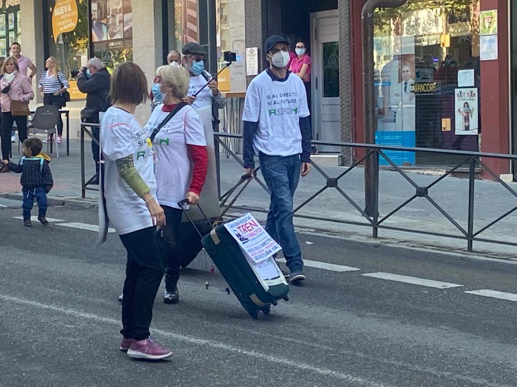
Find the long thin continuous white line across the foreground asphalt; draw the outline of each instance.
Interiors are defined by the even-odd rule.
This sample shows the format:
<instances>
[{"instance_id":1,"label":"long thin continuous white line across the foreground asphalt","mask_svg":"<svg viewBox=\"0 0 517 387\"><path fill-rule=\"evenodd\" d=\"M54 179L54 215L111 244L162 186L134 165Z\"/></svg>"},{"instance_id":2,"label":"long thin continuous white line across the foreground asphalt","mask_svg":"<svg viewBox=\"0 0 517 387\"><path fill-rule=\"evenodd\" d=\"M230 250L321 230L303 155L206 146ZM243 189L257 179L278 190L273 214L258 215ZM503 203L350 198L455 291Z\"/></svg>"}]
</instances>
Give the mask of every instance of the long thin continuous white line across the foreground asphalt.
<instances>
[{"instance_id":1,"label":"long thin continuous white line across the foreground asphalt","mask_svg":"<svg viewBox=\"0 0 517 387\"><path fill-rule=\"evenodd\" d=\"M107 323L115 325L117 327L120 326L119 320L115 320L113 318L108 318L108 317L102 317L102 316L99 316L99 315L93 314L93 313L85 313L85 312L76 311L73 309L59 308L55 305L49 305L49 304L44 304L44 303L37 302L37 301L32 301L32 300L27 300L27 299L17 298L17 297L11 297L11 296L5 296L5 295L0 295L0 300L4 300L4 301L8 301L8 302L16 302L16 303L24 304L24 305L30 305L32 307L36 307L36 308L40 308L40 309L47 309L47 310L51 310L51 311L55 311L55 312L59 312L59 313L64 313L69 316L74 316L74 317L78 317L81 319L87 318L90 320L107 322ZM215 348L215 349L222 349L227 352L238 353L241 355L248 356L250 358L264 360L266 362L273 363L273 364L283 364L286 367L292 367L292 368L296 368L296 369L303 370L303 371L309 371L314 374L318 374L318 375L322 375L322 376L333 377L336 379L343 380L347 383L353 383L354 385L364 385L364 386L368 386L368 387L389 387L386 384L375 383L375 382L372 382L372 381L369 381L369 380L366 380L363 378L359 378L359 377L356 377L353 375L334 371L333 369L321 368L321 367L313 366L313 365L310 365L307 363L301 363L301 362L297 362L294 360L271 356L270 354L267 354L267 353L252 351L252 350L220 343L215 340L206 340L204 338L186 336L186 335L172 333L169 331L164 331L164 330L156 329L156 328L153 328L153 333L156 333L157 335L169 337L172 340L178 341L178 342L194 344L194 345L200 346L200 347L211 347L211 348Z\"/></svg>"}]
</instances>

